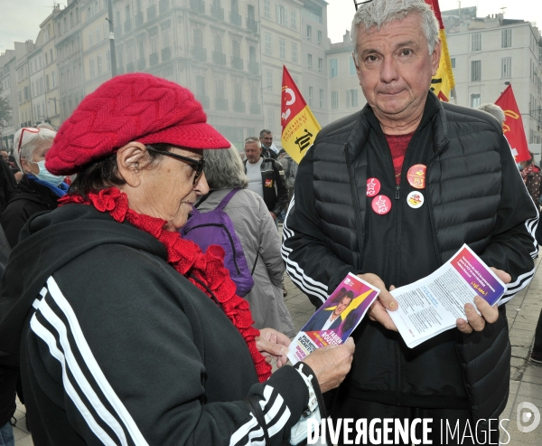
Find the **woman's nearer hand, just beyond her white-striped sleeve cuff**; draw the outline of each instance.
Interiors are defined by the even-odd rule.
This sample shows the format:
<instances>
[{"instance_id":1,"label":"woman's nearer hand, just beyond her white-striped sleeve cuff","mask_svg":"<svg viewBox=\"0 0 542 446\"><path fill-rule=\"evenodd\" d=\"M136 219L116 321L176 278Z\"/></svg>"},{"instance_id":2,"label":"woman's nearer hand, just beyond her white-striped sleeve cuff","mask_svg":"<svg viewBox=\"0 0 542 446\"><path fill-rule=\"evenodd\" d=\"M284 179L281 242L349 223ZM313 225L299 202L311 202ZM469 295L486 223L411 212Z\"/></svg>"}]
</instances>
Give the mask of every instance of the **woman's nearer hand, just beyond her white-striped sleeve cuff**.
<instances>
[{"instance_id":1,"label":"woman's nearer hand, just beyond her white-striped sleeve cuff","mask_svg":"<svg viewBox=\"0 0 542 446\"><path fill-rule=\"evenodd\" d=\"M322 394L338 387L350 372L354 349L354 341L349 337L341 346L324 346L304 358L303 362L316 374Z\"/></svg>"}]
</instances>

